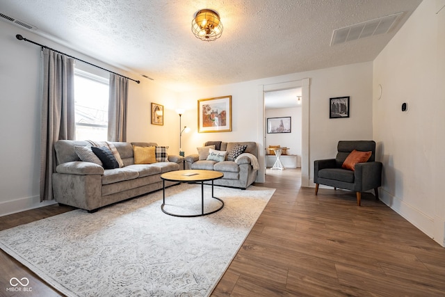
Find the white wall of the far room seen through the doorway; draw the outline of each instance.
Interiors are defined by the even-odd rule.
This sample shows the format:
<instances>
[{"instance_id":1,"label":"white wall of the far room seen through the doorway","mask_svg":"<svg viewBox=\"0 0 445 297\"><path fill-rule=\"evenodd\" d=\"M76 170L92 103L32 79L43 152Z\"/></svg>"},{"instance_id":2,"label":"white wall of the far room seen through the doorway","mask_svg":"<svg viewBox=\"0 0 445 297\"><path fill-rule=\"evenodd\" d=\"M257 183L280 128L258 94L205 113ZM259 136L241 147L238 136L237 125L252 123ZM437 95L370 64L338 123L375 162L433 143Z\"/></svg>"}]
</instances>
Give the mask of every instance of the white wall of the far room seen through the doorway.
<instances>
[{"instance_id":1,"label":"white wall of the far room seen through the doorway","mask_svg":"<svg viewBox=\"0 0 445 297\"><path fill-rule=\"evenodd\" d=\"M266 133L266 147L280 145L289 147L286 154L297 155L297 167L301 167L301 107L267 109L265 118L291 117L291 133Z\"/></svg>"}]
</instances>

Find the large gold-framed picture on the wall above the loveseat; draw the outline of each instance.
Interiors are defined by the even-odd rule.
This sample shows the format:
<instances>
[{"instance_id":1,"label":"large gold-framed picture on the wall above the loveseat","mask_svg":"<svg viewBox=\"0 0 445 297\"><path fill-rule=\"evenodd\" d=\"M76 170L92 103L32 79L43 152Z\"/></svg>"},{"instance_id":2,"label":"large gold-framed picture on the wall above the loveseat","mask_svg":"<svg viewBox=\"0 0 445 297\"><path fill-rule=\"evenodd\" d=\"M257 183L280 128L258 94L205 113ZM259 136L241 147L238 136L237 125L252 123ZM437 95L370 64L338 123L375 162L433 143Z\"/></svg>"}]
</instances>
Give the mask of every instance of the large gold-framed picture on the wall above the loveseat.
<instances>
[{"instance_id":1,"label":"large gold-framed picture on the wall above the loveseat","mask_svg":"<svg viewBox=\"0 0 445 297\"><path fill-rule=\"evenodd\" d=\"M232 96L197 101L197 131L232 131Z\"/></svg>"}]
</instances>

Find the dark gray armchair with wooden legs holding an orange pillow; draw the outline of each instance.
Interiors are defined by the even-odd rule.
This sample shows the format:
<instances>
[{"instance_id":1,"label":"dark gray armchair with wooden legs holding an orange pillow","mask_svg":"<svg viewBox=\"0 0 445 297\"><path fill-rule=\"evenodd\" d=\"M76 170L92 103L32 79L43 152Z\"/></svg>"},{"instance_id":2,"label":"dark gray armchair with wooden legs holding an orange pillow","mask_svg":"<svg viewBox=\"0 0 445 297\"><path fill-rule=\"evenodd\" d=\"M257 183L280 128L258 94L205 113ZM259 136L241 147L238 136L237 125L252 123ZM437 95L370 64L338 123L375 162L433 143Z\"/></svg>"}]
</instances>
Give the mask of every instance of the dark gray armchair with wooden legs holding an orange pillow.
<instances>
[{"instance_id":1,"label":"dark gray armchair with wooden legs holding an orange pillow","mask_svg":"<svg viewBox=\"0 0 445 297\"><path fill-rule=\"evenodd\" d=\"M371 157L366 163L355 164L355 170L341 168L343 161L353 150L371 151ZM357 205L360 206L362 192L374 189L375 199L378 199L378 187L382 185L382 163L375 161L375 141L339 141L337 157L314 161L315 195L318 185L333 186L355 191Z\"/></svg>"}]
</instances>

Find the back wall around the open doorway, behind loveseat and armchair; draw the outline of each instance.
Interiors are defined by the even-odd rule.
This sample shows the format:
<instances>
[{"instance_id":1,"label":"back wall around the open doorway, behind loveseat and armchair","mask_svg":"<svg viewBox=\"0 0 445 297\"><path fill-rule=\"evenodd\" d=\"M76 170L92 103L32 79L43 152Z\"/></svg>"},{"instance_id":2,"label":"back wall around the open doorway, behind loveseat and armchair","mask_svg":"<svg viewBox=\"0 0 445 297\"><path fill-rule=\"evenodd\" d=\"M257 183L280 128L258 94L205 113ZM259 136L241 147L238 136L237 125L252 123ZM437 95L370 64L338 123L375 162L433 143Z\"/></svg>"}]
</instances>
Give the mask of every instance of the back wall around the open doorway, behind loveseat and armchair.
<instances>
[{"instance_id":1,"label":"back wall around the open doorway, behind loveseat and armchair","mask_svg":"<svg viewBox=\"0 0 445 297\"><path fill-rule=\"evenodd\" d=\"M369 62L182 93L178 102L186 109L183 124L192 128L191 133L185 137L183 134L182 146L186 154L195 154L196 147L205 141L256 141L259 144L259 154L263 156L263 159L259 160L262 170L265 149L264 103L259 99L258 86L309 78L308 179L313 180L314 160L335 156L338 141L372 139L372 77L372 63ZM197 100L225 95L232 95L232 132L197 133ZM350 96L350 118L330 119L329 98L341 96ZM313 182L311 185L314 186Z\"/></svg>"}]
</instances>

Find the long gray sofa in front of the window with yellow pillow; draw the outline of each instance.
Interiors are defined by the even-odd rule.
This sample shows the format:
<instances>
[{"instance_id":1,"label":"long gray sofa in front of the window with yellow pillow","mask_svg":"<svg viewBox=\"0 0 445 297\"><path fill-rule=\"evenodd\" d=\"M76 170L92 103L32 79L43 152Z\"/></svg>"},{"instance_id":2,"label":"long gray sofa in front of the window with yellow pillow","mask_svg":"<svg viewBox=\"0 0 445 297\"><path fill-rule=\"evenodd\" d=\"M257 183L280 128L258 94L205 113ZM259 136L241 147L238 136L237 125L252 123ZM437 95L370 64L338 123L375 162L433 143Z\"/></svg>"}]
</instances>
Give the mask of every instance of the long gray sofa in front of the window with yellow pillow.
<instances>
[{"instance_id":1,"label":"long gray sofa in front of the window with yellow pillow","mask_svg":"<svg viewBox=\"0 0 445 297\"><path fill-rule=\"evenodd\" d=\"M134 164L133 146L156 146L156 143L113 143L124 167L104 169L95 163L80 161L74 146L90 145L87 141L57 141L57 157L53 173L54 199L90 212L162 188L163 172L184 169L182 156L169 155L168 162ZM170 186L172 182L165 182Z\"/></svg>"}]
</instances>

